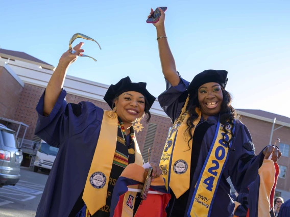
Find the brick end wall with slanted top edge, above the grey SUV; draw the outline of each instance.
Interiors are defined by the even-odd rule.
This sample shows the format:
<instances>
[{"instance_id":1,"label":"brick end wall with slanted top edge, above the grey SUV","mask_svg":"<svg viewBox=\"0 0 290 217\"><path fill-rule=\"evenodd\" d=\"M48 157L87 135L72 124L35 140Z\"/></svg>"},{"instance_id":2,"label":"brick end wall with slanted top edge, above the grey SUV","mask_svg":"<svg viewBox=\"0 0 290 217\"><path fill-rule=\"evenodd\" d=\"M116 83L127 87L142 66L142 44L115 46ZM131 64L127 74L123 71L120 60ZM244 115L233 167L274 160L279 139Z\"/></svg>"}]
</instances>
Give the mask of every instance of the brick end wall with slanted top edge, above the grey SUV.
<instances>
[{"instance_id":1,"label":"brick end wall with slanted top edge, above the grey SUV","mask_svg":"<svg viewBox=\"0 0 290 217\"><path fill-rule=\"evenodd\" d=\"M0 117L14 119L22 86L0 66Z\"/></svg>"}]
</instances>

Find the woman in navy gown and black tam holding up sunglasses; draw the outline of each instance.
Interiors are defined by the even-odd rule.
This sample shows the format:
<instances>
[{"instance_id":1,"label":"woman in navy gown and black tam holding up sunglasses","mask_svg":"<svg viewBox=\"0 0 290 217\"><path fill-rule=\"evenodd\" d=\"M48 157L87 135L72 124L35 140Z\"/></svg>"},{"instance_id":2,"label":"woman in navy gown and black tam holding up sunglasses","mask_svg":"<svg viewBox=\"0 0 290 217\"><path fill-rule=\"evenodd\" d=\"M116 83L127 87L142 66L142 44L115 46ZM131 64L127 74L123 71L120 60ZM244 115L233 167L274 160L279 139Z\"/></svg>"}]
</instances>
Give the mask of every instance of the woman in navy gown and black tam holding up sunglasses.
<instances>
[{"instance_id":1,"label":"woman in navy gown and black tam holding up sunglasses","mask_svg":"<svg viewBox=\"0 0 290 217\"><path fill-rule=\"evenodd\" d=\"M146 83L132 83L129 77L111 85L104 97L113 111L91 102L66 103L63 84L69 65L84 50L83 43L60 58L36 107L35 134L58 147L36 217L107 217L116 180L128 164L143 165L132 124L155 101ZM153 166L153 177L161 170Z\"/></svg>"}]
</instances>

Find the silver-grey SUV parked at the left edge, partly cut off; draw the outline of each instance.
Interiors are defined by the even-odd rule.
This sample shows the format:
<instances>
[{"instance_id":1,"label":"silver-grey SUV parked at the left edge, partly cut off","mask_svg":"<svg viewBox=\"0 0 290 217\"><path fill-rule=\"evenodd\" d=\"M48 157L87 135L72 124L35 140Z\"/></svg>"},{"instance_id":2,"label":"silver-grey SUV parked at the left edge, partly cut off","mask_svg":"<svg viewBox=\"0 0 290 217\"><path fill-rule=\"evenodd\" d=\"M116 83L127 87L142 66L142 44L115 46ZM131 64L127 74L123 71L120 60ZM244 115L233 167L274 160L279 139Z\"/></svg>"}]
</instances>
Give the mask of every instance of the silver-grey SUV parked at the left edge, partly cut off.
<instances>
[{"instance_id":1,"label":"silver-grey SUV parked at the left edge, partly cut off","mask_svg":"<svg viewBox=\"0 0 290 217\"><path fill-rule=\"evenodd\" d=\"M19 181L22 159L16 132L0 124L0 187Z\"/></svg>"}]
</instances>

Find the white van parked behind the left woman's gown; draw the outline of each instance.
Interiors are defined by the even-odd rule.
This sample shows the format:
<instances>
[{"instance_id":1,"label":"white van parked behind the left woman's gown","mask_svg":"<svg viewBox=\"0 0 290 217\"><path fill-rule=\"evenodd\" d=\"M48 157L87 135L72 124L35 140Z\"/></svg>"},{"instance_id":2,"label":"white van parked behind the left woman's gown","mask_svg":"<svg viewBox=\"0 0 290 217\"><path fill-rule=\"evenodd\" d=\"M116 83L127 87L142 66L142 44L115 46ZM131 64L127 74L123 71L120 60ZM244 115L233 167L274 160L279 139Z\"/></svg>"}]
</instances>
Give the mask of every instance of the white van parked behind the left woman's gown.
<instances>
[{"instance_id":1,"label":"white van parked behind the left woman's gown","mask_svg":"<svg viewBox=\"0 0 290 217\"><path fill-rule=\"evenodd\" d=\"M34 172L37 172L38 169L51 170L58 150L59 148L50 146L42 140L35 156Z\"/></svg>"}]
</instances>

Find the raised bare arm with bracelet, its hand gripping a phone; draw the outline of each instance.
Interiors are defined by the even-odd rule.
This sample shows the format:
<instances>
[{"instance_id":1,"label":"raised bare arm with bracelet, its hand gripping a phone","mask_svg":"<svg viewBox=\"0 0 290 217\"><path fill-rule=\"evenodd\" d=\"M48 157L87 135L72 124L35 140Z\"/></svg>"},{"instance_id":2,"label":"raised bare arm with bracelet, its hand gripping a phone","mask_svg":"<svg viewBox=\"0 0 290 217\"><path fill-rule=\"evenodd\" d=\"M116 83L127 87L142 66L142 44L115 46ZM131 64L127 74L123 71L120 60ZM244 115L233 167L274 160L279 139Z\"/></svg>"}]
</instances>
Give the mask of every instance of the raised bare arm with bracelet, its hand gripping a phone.
<instances>
[{"instance_id":1,"label":"raised bare arm with bracelet, its hand gripping a phone","mask_svg":"<svg viewBox=\"0 0 290 217\"><path fill-rule=\"evenodd\" d=\"M157 23L153 23L156 27L157 31L157 38L160 36L166 36L165 33L165 13L162 9L159 8L159 11L161 12L161 16ZM148 17L151 16L151 14L154 13L154 11L151 9L151 13ZM167 38L159 38L158 40L158 48L159 48L159 57L162 67L162 72L164 74L164 77L172 86L177 86L180 82L180 77L177 73L175 61L172 55L172 52L170 50Z\"/></svg>"}]
</instances>

